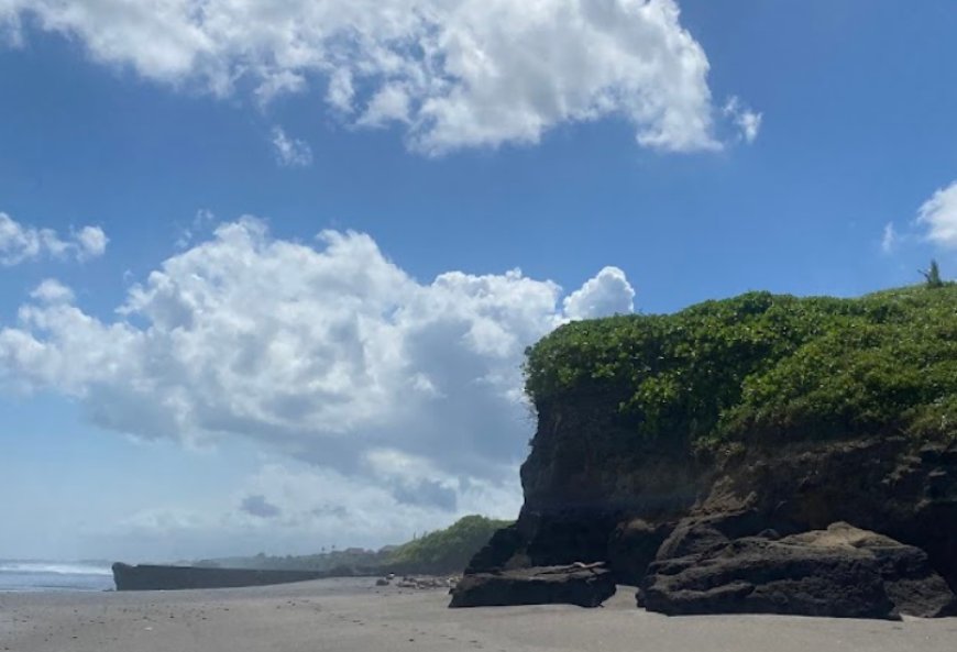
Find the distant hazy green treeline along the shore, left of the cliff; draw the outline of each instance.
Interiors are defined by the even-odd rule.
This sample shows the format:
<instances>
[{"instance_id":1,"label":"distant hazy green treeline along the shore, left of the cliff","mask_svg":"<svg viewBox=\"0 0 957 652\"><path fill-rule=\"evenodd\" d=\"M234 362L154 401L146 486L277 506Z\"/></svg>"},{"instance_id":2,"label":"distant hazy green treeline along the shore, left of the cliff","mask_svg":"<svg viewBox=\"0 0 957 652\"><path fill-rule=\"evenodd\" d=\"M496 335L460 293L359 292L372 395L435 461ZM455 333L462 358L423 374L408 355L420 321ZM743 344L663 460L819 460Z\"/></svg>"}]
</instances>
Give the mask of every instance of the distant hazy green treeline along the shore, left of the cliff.
<instances>
[{"instance_id":1,"label":"distant hazy green treeline along the shore, left of the cliff","mask_svg":"<svg viewBox=\"0 0 957 652\"><path fill-rule=\"evenodd\" d=\"M417 537L402 545L380 550L346 548L309 555L200 560L190 565L211 568L257 568L265 571L342 571L348 574L458 573L464 568L492 534L510 521L466 516L454 524Z\"/></svg>"}]
</instances>

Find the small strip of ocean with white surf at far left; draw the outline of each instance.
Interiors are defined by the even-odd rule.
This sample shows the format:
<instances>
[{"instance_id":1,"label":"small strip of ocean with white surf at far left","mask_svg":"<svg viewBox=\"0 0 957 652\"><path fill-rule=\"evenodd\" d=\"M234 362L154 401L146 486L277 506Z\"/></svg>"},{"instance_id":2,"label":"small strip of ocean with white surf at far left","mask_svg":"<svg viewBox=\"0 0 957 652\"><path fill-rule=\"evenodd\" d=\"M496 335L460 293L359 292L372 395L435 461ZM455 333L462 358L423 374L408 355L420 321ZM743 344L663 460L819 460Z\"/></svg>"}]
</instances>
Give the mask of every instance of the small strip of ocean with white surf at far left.
<instances>
[{"instance_id":1,"label":"small strip of ocean with white surf at far left","mask_svg":"<svg viewBox=\"0 0 957 652\"><path fill-rule=\"evenodd\" d=\"M109 566L0 561L0 592L112 590Z\"/></svg>"}]
</instances>

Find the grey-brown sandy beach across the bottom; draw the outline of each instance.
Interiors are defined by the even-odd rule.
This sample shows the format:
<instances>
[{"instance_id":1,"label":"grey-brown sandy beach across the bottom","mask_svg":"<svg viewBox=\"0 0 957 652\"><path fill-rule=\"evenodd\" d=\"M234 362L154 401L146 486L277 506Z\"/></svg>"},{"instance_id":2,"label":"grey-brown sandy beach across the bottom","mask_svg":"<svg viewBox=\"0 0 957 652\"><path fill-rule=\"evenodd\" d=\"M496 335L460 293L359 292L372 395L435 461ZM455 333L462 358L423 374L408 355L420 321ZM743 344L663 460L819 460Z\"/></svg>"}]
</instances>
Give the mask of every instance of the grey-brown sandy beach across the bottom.
<instances>
[{"instance_id":1,"label":"grey-brown sandy beach across the bottom","mask_svg":"<svg viewBox=\"0 0 957 652\"><path fill-rule=\"evenodd\" d=\"M0 594L0 651L957 651L957 619L668 618L622 587L604 608L447 609L443 590L324 579L249 589Z\"/></svg>"}]
</instances>

